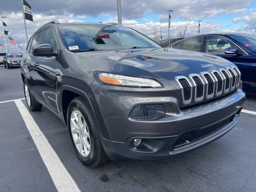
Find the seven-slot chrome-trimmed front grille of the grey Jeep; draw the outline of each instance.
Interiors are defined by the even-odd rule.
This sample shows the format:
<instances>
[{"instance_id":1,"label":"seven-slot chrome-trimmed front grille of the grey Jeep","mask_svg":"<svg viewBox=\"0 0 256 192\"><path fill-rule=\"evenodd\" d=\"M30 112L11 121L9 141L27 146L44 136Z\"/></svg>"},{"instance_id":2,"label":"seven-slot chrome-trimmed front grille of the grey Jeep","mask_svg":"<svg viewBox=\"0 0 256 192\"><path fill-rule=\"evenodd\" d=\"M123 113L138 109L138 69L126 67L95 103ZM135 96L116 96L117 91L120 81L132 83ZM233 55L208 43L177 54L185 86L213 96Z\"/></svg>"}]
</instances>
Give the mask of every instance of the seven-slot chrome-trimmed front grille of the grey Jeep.
<instances>
[{"instance_id":1,"label":"seven-slot chrome-trimmed front grille of the grey Jeep","mask_svg":"<svg viewBox=\"0 0 256 192\"><path fill-rule=\"evenodd\" d=\"M238 68L232 66L200 74L190 74L189 77L175 77L180 86L184 105L191 104L192 100L199 102L233 91L239 86L241 73Z\"/></svg>"}]
</instances>

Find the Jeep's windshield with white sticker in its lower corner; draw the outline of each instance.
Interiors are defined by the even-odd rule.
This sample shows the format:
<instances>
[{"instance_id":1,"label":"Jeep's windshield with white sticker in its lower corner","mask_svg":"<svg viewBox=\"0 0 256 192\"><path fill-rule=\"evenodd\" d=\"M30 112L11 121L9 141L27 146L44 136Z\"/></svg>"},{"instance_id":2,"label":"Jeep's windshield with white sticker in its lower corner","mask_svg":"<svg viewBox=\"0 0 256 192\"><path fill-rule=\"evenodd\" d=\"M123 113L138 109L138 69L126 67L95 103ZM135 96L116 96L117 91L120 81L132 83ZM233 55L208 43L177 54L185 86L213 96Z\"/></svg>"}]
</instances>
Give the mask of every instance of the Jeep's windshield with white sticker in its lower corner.
<instances>
[{"instance_id":1,"label":"Jeep's windshield with white sticker in its lower corner","mask_svg":"<svg viewBox=\"0 0 256 192\"><path fill-rule=\"evenodd\" d=\"M122 50L161 46L150 38L124 26L70 25L59 26L68 50Z\"/></svg>"}]
</instances>

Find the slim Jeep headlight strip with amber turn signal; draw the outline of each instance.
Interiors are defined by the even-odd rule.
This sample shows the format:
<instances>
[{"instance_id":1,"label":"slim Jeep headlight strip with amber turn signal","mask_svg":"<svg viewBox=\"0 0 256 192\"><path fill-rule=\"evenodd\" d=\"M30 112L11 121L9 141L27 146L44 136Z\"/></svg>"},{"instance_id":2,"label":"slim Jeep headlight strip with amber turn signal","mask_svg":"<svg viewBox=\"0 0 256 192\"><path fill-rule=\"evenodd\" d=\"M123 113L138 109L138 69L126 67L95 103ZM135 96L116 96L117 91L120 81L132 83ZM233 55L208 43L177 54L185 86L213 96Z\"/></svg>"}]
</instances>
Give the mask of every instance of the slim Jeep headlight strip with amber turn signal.
<instances>
[{"instance_id":1,"label":"slim Jeep headlight strip with amber turn signal","mask_svg":"<svg viewBox=\"0 0 256 192\"><path fill-rule=\"evenodd\" d=\"M95 72L95 79L101 84L127 86L127 87L164 87L156 80L132 76L124 76L106 72Z\"/></svg>"}]
</instances>

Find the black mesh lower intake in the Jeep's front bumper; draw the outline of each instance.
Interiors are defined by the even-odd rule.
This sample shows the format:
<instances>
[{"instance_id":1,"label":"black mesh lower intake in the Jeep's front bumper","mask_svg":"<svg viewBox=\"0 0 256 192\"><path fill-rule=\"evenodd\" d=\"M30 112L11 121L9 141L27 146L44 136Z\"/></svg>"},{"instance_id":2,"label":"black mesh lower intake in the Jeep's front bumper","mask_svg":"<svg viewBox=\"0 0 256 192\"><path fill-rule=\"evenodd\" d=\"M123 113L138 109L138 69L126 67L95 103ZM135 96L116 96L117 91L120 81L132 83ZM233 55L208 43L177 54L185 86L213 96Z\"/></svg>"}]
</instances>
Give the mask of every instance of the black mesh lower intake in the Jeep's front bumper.
<instances>
[{"instance_id":1,"label":"black mesh lower intake in the Jeep's front bumper","mask_svg":"<svg viewBox=\"0 0 256 192\"><path fill-rule=\"evenodd\" d=\"M178 138L178 140L176 140L176 142L173 145L173 148L180 146L180 144L182 144L182 143L185 144L186 141L189 141L189 142L186 142L188 144L188 143L192 142L194 139L200 138L201 136L204 136L204 135L209 134L219 128L222 128L223 126L225 126L226 124L231 122L233 120L233 118L234 118L234 116L231 116L229 118L222 120L221 122L218 122L212 126L205 128L203 130L194 130L191 132L184 133Z\"/></svg>"}]
</instances>

